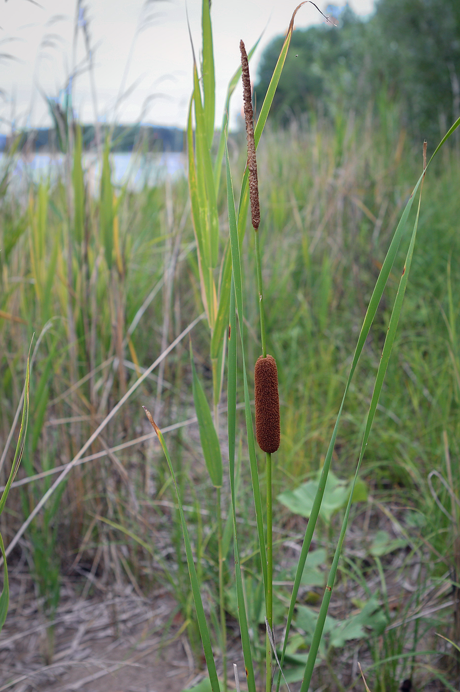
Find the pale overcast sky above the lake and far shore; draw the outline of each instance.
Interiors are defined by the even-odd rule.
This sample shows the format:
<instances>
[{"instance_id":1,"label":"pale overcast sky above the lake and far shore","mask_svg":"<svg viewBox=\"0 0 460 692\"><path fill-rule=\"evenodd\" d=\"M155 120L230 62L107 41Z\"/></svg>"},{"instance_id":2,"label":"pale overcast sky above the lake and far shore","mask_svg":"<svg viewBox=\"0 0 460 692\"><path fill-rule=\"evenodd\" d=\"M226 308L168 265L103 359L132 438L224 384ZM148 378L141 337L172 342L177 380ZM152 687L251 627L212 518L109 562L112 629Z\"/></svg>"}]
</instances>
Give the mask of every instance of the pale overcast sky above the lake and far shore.
<instances>
[{"instance_id":1,"label":"pale overcast sky above the lake and far shore","mask_svg":"<svg viewBox=\"0 0 460 692\"><path fill-rule=\"evenodd\" d=\"M264 46L285 33L299 0L213 0L211 19L215 51L216 120L240 61L240 39L249 48L263 33L251 62L251 75ZM83 0L76 49L76 0L0 0L0 131L26 125L50 124L42 94L57 97L75 66L82 71L72 84L73 108L83 122L99 120L152 122L184 127L192 84L192 52L187 12L195 53L200 51L201 0ZM326 14L328 3L318 6ZM344 6L345 0L336 0ZM360 15L373 10L374 0L349 0ZM86 24L85 24L86 21ZM297 13L297 28L321 24L311 5ZM86 69L82 32L89 34L94 63L94 93ZM119 102L118 96L129 89ZM117 104L118 100L118 106ZM233 122L241 109L240 90L231 105Z\"/></svg>"}]
</instances>

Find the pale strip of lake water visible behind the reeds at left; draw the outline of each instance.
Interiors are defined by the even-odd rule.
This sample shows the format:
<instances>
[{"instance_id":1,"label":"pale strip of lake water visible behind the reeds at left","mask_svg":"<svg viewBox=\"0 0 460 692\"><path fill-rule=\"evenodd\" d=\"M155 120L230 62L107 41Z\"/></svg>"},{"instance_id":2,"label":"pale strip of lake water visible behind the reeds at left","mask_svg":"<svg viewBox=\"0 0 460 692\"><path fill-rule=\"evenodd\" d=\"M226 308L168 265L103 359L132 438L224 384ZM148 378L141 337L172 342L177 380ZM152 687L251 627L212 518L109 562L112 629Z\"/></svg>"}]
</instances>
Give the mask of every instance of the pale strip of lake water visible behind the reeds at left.
<instances>
[{"instance_id":1,"label":"pale strip of lake water visible behind the reeds at left","mask_svg":"<svg viewBox=\"0 0 460 692\"><path fill-rule=\"evenodd\" d=\"M8 156L0 153L0 179ZM144 185L153 187L166 178L175 179L185 175L186 156L183 152L164 154L133 154L131 152L111 154L112 183L118 187L127 185L138 191ZM93 152L82 155L85 179L91 194L97 194L100 185L101 159ZM10 189L20 193L28 190L29 184L49 179L51 185L64 173L63 154L30 154L15 156L10 175Z\"/></svg>"}]
</instances>

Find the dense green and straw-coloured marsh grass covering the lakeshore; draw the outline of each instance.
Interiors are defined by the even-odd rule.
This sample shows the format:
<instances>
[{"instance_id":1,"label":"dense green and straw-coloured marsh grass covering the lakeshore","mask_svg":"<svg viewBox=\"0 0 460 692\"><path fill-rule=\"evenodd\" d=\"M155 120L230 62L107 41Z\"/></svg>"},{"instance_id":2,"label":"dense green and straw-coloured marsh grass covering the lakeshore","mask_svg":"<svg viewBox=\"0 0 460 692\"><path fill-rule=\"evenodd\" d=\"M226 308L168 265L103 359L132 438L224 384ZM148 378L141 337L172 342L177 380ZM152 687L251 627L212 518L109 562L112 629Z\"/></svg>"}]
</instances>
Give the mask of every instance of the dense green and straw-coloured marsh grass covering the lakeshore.
<instances>
[{"instance_id":1,"label":"dense green and straw-coloured marsh grass covering the lakeshore","mask_svg":"<svg viewBox=\"0 0 460 692\"><path fill-rule=\"evenodd\" d=\"M303 605L294 610L305 562L308 568L313 559L312 540L317 544L328 537L320 532L313 538L313 529L329 468L354 483L362 461L360 473L374 494L391 491L397 497L403 486L404 501L409 498L424 515L418 520L423 542L411 538L412 555L422 559L423 551L430 551L437 561L427 580L447 579L449 572L454 579L457 569L457 539L450 538L450 528L458 523L458 478L449 460L458 453L460 277L450 256L458 249L459 162L446 150L442 164L437 158L430 163L423 203L415 214L421 148L414 152L409 147L396 119L388 118L383 127L369 111L365 122L350 116L335 125L313 120L298 129L269 131L269 102L288 34L255 128L261 218L258 230L249 233L242 137L226 134L227 116L218 140L213 131L206 1L202 24L203 59L201 66L194 65L187 130L188 190L184 181L139 194L115 189L107 142L100 190L91 196L78 128L63 182L54 188L31 186L26 203L8 194L5 185L0 254L3 440L21 396L26 343L34 330L39 345L24 451L28 479L12 484L6 509L17 511L19 519L12 514L8 524L2 519L1 531L8 554L17 552L19 537L27 532L35 579L48 594L48 617L53 617L53 594L59 593L64 570L98 572L101 579L118 583L129 579L139 591L148 589L152 575L168 579L191 637L196 626L200 630L213 689L230 685L231 661L225 652L231 612L239 618L248 688L256 689L260 664L266 664L265 689L271 689L275 648L287 677L301 666L301 689L306 690L316 660L326 660L333 677L331 652L347 641L335 637L326 653L321 644L322 631L331 631L326 613L338 579L349 502L337 515L342 528L337 521L328 527L327 534L336 540L329 545L330 590L324 590L319 619L302 610ZM237 70L229 95L239 76ZM237 170L241 185L234 182ZM256 327L262 293L265 348ZM183 345L188 334L190 348ZM267 352L276 358L281 403L281 446L272 466L256 453L251 412L251 373L258 356ZM238 401L244 402L244 421ZM139 418L141 403L153 411L164 432L157 431L166 464L158 448L148 446L152 442ZM172 440L165 430L190 417L192 406L202 444L202 461L194 451L193 463L184 448L196 450L195 437L186 435L185 426ZM227 440L226 409L228 452L222 442ZM145 445L146 464L127 446L136 436ZM430 486L430 471L440 466L439 475L430 476ZM272 585L267 569L273 550L274 581L283 581L276 568L284 560L283 547L272 543L271 501L266 509L266 498L271 485L276 498L318 469L319 490L288 593ZM197 477L197 486L188 482L190 477ZM172 509L171 491L177 493ZM348 496L353 492L346 500ZM184 529L185 555L181 537L170 529L170 511ZM204 517L209 525L203 525ZM281 527L292 521L276 499L272 519ZM253 525L254 531L249 530ZM154 547L149 543L152 526L159 537ZM297 526L304 531L302 524ZM48 543L44 536L51 537ZM46 567L56 560L60 569L53 573L53 583L46 583L51 572ZM350 570L359 581L360 568L353 563ZM379 570L375 560L375 572L383 575L384 601L384 572ZM85 595L89 588L88 581ZM378 604L373 611L372 605L369 594L362 622L374 632L374 644L379 633L387 648L375 644L369 675L378 671L374 689L397 689L409 653L414 676L423 673L414 659L420 637L412 630L408 653L402 637L391 639L392 629L384 632L389 615L378 619L375 613L382 611ZM292 622L295 636L289 636ZM296 632L304 633L308 652ZM242 666L238 670L245 677ZM275 677L275 684L282 681Z\"/></svg>"}]
</instances>

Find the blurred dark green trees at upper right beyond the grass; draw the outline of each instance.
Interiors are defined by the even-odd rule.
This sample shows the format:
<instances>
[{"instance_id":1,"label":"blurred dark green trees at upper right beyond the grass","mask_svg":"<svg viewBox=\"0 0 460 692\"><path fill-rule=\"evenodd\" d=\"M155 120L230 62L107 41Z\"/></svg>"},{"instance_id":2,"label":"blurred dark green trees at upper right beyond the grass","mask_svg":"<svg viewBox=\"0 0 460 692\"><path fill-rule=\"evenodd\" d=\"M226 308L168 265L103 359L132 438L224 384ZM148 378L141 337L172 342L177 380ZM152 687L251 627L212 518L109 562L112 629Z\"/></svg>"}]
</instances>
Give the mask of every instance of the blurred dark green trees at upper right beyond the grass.
<instances>
[{"instance_id":1,"label":"blurred dark green trees at upper right beyond the grass","mask_svg":"<svg viewBox=\"0 0 460 692\"><path fill-rule=\"evenodd\" d=\"M259 106L282 44L274 39L260 60ZM347 9L337 28L294 31L272 118L334 117L384 100L400 104L418 138L439 136L460 116L460 0L380 0L368 21Z\"/></svg>"}]
</instances>

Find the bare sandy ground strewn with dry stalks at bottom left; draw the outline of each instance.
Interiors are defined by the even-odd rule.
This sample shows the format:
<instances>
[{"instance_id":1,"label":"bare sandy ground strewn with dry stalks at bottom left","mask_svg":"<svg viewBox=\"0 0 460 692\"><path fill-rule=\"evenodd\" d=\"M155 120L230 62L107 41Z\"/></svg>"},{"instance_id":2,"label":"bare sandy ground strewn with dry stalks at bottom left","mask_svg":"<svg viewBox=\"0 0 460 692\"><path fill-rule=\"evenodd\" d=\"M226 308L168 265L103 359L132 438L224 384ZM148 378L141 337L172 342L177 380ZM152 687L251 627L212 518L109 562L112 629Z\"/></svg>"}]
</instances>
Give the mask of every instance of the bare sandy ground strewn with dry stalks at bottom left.
<instances>
[{"instance_id":1,"label":"bare sandy ground strewn with dry stalks at bottom left","mask_svg":"<svg viewBox=\"0 0 460 692\"><path fill-rule=\"evenodd\" d=\"M50 659L51 630L30 578L15 575L10 588L1 692L180 692L202 677L183 623L168 626L175 603L166 592L141 599L127 589L82 600L64 584Z\"/></svg>"}]
</instances>

